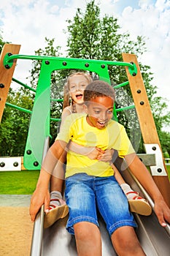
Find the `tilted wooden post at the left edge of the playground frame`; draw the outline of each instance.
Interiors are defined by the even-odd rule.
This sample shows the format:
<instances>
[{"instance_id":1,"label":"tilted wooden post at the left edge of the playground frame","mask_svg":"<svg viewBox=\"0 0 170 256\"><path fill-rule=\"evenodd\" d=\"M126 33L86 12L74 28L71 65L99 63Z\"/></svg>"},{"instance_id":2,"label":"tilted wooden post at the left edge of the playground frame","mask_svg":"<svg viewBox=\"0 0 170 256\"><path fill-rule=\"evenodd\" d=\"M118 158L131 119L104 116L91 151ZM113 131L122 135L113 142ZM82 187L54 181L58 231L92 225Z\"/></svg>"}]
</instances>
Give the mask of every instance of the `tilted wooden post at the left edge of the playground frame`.
<instances>
[{"instance_id":1,"label":"tilted wooden post at the left edge of the playground frame","mask_svg":"<svg viewBox=\"0 0 170 256\"><path fill-rule=\"evenodd\" d=\"M4 112L4 106L7 101L7 95L9 92L9 87L12 81L12 75L14 73L16 61L10 69L6 69L3 65L4 56L7 53L18 54L20 51L20 45L12 45L12 44L5 44L0 56L0 122Z\"/></svg>"}]
</instances>

